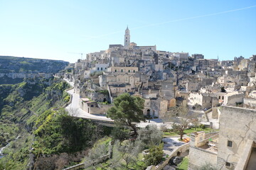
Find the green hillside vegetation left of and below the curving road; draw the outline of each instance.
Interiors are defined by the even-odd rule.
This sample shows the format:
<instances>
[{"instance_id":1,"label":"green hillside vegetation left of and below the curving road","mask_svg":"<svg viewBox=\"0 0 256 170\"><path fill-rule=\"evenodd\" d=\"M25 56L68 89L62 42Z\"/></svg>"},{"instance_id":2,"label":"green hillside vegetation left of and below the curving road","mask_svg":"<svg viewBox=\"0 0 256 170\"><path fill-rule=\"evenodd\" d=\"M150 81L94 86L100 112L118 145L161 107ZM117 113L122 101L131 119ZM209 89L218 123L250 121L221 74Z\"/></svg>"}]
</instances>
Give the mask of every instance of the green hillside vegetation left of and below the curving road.
<instances>
[{"instance_id":1,"label":"green hillside vegetation left of and below the curving road","mask_svg":"<svg viewBox=\"0 0 256 170\"><path fill-rule=\"evenodd\" d=\"M4 157L0 169L61 169L70 160L68 154L90 147L105 134L105 129L89 120L73 118L60 108L69 101L68 84L59 79L26 80L0 86L0 147ZM61 153L63 161L58 163ZM52 157L50 161L43 155ZM53 159L54 158L54 159Z\"/></svg>"}]
</instances>

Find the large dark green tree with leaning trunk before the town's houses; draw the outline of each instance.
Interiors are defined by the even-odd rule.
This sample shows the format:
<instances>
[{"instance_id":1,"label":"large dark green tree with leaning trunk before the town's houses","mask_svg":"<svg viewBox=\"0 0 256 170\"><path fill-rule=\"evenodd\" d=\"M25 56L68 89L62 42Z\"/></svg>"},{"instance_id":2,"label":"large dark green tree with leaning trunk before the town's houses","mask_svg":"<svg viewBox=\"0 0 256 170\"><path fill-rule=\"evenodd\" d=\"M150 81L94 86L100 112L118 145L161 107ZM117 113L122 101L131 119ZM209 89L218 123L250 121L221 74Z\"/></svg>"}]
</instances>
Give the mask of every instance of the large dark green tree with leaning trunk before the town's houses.
<instances>
[{"instance_id":1,"label":"large dark green tree with leaning trunk before the town's houses","mask_svg":"<svg viewBox=\"0 0 256 170\"><path fill-rule=\"evenodd\" d=\"M137 135L137 128L134 123L145 120L143 109L143 98L125 93L114 98L114 106L107 111L107 118L111 118L119 125L128 125Z\"/></svg>"}]
</instances>

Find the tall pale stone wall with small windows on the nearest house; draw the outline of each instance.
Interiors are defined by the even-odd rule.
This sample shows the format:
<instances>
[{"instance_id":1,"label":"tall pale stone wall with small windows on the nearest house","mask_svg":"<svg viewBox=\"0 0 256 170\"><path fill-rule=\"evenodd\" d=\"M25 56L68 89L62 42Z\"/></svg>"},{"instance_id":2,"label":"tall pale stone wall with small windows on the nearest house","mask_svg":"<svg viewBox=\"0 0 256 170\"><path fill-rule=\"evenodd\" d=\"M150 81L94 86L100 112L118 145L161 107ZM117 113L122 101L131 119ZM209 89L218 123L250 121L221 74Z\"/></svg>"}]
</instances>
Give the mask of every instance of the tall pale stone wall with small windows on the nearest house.
<instances>
[{"instance_id":1,"label":"tall pale stone wall with small windows on the nearest house","mask_svg":"<svg viewBox=\"0 0 256 170\"><path fill-rule=\"evenodd\" d=\"M218 144L219 169L235 169L235 166L243 159L248 140L256 140L256 111L233 106L223 106L220 115L220 137ZM232 146L228 146L228 141ZM225 166L225 162L231 164Z\"/></svg>"}]
</instances>

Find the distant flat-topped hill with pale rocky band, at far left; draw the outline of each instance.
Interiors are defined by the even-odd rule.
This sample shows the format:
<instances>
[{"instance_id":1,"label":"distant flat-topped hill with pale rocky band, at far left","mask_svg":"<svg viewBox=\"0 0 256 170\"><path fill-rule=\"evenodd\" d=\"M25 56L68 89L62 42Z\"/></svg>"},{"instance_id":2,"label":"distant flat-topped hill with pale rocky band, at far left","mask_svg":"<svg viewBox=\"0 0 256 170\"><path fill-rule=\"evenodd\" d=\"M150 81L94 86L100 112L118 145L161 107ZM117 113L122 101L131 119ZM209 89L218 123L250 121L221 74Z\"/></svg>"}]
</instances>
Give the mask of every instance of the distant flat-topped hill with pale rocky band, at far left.
<instances>
[{"instance_id":1,"label":"distant flat-topped hill with pale rocky band, at far left","mask_svg":"<svg viewBox=\"0 0 256 170\"><path fill-rule=\"evenodd\" d=\"M0 84L16 84L24 78L49 79L67 65L61 60L0 56Z\"/></svg>"}]
</instances>

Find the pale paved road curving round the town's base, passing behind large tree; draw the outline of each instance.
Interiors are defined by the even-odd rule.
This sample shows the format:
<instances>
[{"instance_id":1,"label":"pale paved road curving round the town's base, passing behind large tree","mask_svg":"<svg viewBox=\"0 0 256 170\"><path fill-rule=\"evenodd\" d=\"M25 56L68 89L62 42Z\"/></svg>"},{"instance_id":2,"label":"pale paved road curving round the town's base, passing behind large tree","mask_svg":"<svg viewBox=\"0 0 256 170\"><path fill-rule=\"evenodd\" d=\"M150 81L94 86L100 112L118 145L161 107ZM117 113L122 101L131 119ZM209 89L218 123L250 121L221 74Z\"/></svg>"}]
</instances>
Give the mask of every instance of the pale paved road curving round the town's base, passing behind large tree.
<instances>
[{"instance_id":1,"label":"pale paved road curving round the town's base, passing behind large tree","mask_svg":"<svg viewBox=\"0 0 256 170\"><path fill-rule=\"evenodd\" d=\"M68 84L70 84L70 86L74 86L73 82L68 81L67 79L64 79L65 81L68 82ZM95 120L106 120L106 121L113 121L110 118L107 118L105 115L92 115L90 113L87 113L86 111L83 111L82 109L80 109L79 107L79 100L80 100L80 96L79 94L75 94L74 93L74 89L71 89L70 91L67 91L68 94L71 94L73 96L72 102L70 103L70 105L68 105L66 107L66 110L70 113L70 115L79 117L79 118L88 118L88 119L95 119ZM146 127L146 125L156 125L158 128L171 128L171 124L170 123L162 123L161 119L153 119L150 120L149 122L141 122L141 123L137 123L137 126L140 128L144 128Z\"/></svg>"}]
</instances>

